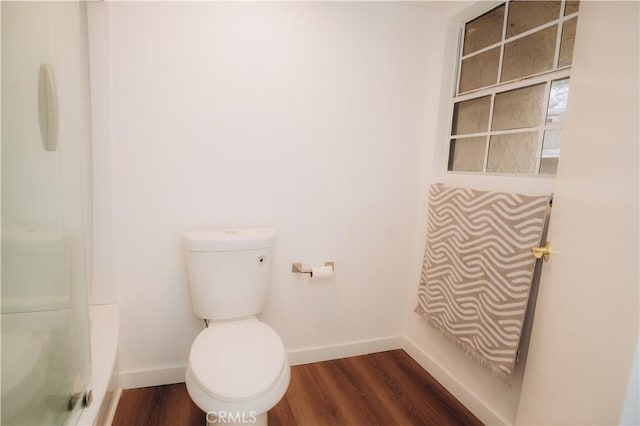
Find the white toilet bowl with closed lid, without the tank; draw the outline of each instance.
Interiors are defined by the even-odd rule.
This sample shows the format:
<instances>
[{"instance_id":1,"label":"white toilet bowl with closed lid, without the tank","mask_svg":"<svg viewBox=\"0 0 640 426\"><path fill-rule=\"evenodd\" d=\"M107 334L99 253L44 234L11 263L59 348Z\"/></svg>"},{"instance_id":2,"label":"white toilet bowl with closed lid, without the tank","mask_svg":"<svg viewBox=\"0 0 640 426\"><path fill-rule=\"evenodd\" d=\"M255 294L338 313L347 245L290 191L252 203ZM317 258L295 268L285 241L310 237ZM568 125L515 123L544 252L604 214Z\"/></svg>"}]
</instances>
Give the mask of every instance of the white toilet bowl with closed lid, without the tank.
<instances>
[{"instance_id":1,"label":"white toilet bowl with closed lid, without the tank","mask_svg":"<svg viewBox=\"0 0 640 426\"><path fill-rule=\"evenodd\" d=\"M211 323L191 346L187 390L209 424L266 425L289 378L280 337L256 318Z\"/></svg>"}]
</instances>

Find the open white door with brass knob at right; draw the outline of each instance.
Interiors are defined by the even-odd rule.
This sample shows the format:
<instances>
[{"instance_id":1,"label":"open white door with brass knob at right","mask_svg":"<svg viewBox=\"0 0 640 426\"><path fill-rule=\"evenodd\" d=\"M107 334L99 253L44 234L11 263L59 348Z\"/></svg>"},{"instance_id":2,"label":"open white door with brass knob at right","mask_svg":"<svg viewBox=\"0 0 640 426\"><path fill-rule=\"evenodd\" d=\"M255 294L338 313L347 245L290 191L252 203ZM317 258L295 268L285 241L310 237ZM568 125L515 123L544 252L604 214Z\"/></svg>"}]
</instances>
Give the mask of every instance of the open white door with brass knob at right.
<instances>
[{"instance_id":1,"label":"open white door with brass knob at right","mask_svg":"<svg viewBox=\"0 0 640 426\"><path fill-rule=\"evenodd\" d=\"M617 424L638 337L637 2L583 2L520 424Z\"/></svg>"}]
</instances>

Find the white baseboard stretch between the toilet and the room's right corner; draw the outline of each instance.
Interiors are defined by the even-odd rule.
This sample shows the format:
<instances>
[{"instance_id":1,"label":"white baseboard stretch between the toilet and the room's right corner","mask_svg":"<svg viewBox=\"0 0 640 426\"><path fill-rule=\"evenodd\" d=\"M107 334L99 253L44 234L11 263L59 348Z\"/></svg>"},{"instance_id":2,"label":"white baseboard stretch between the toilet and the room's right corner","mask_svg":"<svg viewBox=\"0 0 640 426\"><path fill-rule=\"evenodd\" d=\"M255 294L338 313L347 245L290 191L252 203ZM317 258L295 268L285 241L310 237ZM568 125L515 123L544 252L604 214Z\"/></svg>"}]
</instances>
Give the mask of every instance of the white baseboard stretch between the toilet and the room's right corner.
<instances>
[{"instance_id":1,"label":"white baseboard stretch between the toilet and the room's right corner","mask_svg":"<svg viewBox=\"0 0 640 426\"><path fill-rule=\"evenodd\" d=\"M314 346L311 348L287 351L289 364L300 365L312 362L329 361L350 356L366 355L375 352L402 348L403 336L389 336L379 339L358 340L335 345Z\"/></svg>"}]
</instances>

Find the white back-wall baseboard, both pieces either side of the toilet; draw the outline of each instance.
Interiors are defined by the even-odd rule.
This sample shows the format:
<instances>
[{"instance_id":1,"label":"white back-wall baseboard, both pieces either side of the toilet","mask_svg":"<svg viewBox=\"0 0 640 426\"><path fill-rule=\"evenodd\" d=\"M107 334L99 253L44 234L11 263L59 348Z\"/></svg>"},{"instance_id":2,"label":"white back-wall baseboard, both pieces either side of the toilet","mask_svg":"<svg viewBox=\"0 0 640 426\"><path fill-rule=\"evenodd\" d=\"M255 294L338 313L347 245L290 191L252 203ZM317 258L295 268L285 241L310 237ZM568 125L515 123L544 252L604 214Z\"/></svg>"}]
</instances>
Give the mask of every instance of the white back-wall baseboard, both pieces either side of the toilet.
<instances>
[{"instance_id":1,"label":"white back-wall baseboard, both pieces either side of the toilet","mask_svg":"<svg viewBox=\"0 0 640 426\"><path fill-rule=\"evenodd\" d=\"M379 339L359 340L327 346L287 351L291 365L309 364L311 362L328 361L350 356L366 355L375 352L400 349L404 337L390 336ZM172 366L145 370L129 370L120 372L120 386L123 389L161 386L185 381L187 367Z\"/></svg>"}]
</instances>

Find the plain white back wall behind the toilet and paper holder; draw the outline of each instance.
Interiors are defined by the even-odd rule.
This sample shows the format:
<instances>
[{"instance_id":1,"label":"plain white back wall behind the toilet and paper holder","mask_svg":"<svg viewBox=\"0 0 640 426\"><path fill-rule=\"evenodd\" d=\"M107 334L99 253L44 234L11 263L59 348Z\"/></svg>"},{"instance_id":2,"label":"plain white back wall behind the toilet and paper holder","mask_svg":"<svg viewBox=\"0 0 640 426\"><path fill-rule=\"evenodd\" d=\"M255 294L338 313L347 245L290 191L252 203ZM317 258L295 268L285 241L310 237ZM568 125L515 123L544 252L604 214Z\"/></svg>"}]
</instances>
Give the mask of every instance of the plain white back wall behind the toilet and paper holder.
<instances>
[{"instance_id":1,"label":"plain white back wall behind the toilet and paper holder","mask_svg":"<svg viewBox=\"0 0 640 426\"><path fill-rule=\"evenodd\" d=\"M390 3L108 6L111 181L96 185L112 185L125 386L182 380L201 329L181 251L191 228L278 229L262 317L288 350L397 345L441 21ZM291 273L325 260L333 279Z\"/></svg>"}]
</instances>

